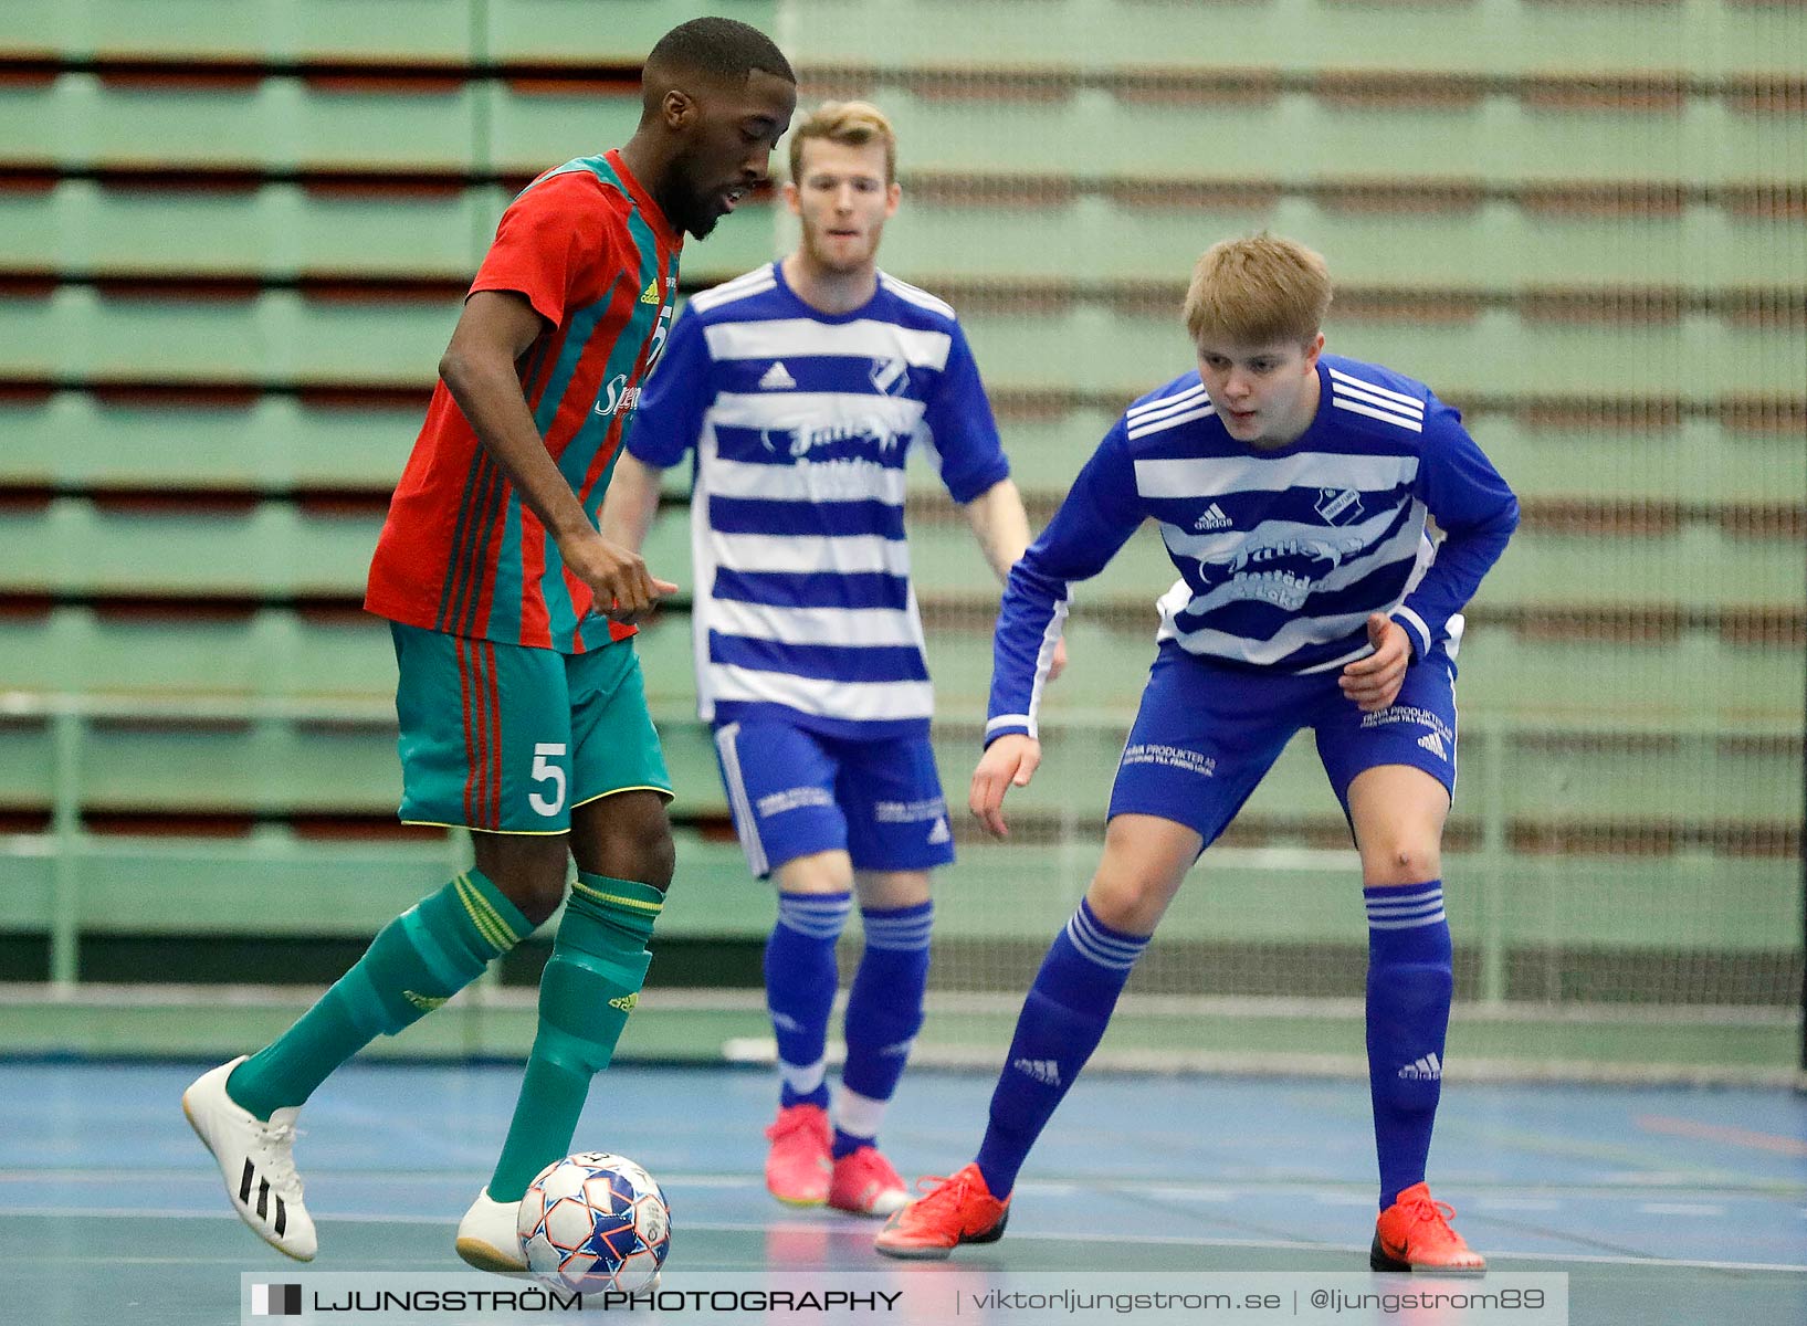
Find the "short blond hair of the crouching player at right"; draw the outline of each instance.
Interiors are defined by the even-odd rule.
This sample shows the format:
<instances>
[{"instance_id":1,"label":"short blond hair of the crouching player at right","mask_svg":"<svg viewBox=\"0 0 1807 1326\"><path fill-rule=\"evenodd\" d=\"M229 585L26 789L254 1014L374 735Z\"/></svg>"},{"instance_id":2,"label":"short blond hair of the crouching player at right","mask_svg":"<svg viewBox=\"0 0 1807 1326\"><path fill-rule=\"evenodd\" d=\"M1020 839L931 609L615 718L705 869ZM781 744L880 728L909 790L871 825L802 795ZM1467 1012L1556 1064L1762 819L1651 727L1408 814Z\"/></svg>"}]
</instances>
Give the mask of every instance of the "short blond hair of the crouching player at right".
<instances>
[{"instance_id":1,"label":"short blond hair of the crouching player at right","mask_svg":"<svg viewBox=\"0 0 1807 1326\"><path fill-rule=\"evenodd\" d=\"M1227 345L1308 341L1330 313L1330 269L1319 253L1269 235L1205 249L1185 291L1185 331Z\"/></svg>"}]
</instances>

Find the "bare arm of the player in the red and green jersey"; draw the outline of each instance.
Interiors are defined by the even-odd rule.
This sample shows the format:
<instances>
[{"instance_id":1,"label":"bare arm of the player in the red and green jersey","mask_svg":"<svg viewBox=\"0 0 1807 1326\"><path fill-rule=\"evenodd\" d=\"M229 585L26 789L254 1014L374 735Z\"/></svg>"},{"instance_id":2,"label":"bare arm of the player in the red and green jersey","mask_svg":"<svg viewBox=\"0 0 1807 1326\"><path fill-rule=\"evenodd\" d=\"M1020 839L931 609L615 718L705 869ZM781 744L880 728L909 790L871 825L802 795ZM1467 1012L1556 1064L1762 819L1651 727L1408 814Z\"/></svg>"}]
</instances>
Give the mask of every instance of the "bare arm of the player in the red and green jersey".
<instances>
[{"instance_id":1,"label":"bare arm of the player in the red and green jersey","mask_svg":"<svg viewBox=\"0 0 1807 1326\"><path fill-rule=\"evenodd\" d=\"M464 302L439 378L522 504L558 544L564 564L596 594L598 611L632 620L678 585L654 580L638 553L604 540L553 464L515 369L542 327L526 296L481 289Z\"/></svg>"}]
</instances>

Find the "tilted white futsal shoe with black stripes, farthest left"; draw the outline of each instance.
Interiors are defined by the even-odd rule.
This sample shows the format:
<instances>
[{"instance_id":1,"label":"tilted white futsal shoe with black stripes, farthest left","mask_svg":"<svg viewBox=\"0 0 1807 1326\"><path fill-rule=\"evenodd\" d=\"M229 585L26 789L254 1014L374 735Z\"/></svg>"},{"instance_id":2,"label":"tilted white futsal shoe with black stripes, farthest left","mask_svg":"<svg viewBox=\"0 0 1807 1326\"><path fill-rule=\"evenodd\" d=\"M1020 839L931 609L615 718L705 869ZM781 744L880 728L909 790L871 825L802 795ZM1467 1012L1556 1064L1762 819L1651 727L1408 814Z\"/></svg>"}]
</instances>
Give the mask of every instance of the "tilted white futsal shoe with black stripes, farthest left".
<instances>
[{"instance_id":1,"label":"tilted white futsal shoe with black stripes, farthest left","mask_svg":"<svg viewBox=\"0 0 1807 1326\"><path fill-rule=\"evenodd\" d=\"M183 1093L183 1113L226 1180L226 1196L239 1219L264 1243L296 1261L313 1261L320 1243L302 1205L302 1178L295 1172L295 1116L278 1109L266 1124L226 1095L226 1079L246 1060L239 1055L197 1077Z\"/></svg>"}]
</instances>

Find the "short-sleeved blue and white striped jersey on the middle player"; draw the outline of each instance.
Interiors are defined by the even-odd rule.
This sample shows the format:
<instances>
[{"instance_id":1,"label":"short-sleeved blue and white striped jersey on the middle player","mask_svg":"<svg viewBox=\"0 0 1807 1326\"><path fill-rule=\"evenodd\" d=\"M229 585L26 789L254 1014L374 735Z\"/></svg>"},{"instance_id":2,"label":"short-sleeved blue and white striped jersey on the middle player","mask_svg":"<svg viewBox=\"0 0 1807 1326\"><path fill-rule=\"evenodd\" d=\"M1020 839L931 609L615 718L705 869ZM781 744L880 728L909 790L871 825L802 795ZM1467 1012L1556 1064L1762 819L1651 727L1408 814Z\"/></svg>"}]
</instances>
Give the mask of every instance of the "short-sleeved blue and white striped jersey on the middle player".
<instances>
[{"instance_id":1,"label":"short-sleeved blue and white striped jersey on the middle player","mask_svg":"<svg viewBox=\"0 0 1807 1326\"><path fill-rule=\"evenodd\" d=\"M927 733L934 710L904 538L922 443L956 502L1008 477L954 311L885 273L824 314L779 264L690 300L627 450L690 497L698 708L826 735Z\"/></svg>"}]
</instances>

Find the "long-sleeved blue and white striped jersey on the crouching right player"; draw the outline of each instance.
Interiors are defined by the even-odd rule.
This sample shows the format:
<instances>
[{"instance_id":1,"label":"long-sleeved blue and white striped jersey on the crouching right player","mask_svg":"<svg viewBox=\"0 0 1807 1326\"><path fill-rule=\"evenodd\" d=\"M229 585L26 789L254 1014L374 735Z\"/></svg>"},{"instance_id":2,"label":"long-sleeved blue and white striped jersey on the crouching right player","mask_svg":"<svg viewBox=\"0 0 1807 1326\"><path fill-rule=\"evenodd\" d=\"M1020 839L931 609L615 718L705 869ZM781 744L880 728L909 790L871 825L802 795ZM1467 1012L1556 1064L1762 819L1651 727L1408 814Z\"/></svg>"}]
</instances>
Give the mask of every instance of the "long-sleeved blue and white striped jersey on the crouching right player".
<instances>
[{"instance_id":1,"label":"long-sleeved blue and white striped jersey on the crouching right player","mask_svg":"<svg viewBox=\"0 0 1807 1326\"><path fill-rule=\"evenodd\" d=\"M1196 369L1124 412L1010 573L987 741L1035 735L1068 585L1144 518L1180 571L1156 603L1164 649L1323 672L1368 654L1368 614L1386 612L1415 658L1455 656L1460 609L1505 551L1518 500L1424 383L1332 354L1317 381L1310 426L1272 452L1229 435Z\"/></svg>"}]
</instances>

